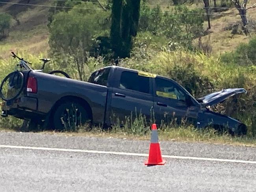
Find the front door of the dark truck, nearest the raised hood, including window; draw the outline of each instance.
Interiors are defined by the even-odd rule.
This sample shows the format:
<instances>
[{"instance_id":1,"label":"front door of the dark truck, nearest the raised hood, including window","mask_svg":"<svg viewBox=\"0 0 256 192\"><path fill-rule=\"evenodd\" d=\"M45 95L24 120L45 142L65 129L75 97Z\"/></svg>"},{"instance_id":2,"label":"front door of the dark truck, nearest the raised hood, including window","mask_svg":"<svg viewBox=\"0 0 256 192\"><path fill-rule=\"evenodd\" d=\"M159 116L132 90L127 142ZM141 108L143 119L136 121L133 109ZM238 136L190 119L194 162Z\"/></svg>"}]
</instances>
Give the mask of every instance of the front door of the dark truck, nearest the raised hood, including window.
<instances>
[{"instance_id":1,"label":"front door of the dark truck, nearest the raised hood, including window","mask_svg":"<svg viewBox=\"0 0 256 192\"><path fill-rule=\"evenodd\" d=\"M192 98L180 85L170 79L155 78L154 113L158 124L196 124L199 107L192 105Z\"/></svg>"}]
</instances>

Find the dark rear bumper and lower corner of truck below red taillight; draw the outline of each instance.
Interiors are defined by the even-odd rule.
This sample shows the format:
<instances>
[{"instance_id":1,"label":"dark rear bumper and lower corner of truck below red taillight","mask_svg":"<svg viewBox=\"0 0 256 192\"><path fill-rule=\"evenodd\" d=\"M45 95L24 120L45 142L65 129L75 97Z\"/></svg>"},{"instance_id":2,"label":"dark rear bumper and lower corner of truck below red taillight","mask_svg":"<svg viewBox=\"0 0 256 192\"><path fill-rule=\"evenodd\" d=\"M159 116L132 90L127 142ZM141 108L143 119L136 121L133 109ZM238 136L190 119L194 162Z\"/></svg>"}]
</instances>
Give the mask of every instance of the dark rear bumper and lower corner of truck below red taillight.
<instances>
[{"instance_id":1,"label":"dark rear bumper and lower corner of truck below red taillight","mask_svg":"<svg viewBox=\"0 0 256 192\"><path fill-rule=\"evenodd\" d=\"M20 119L43 118L45 115L37 111L37 98L20 97L17 100L3 103L1 116L15 116Z\"/></svg>"}]
</instances>

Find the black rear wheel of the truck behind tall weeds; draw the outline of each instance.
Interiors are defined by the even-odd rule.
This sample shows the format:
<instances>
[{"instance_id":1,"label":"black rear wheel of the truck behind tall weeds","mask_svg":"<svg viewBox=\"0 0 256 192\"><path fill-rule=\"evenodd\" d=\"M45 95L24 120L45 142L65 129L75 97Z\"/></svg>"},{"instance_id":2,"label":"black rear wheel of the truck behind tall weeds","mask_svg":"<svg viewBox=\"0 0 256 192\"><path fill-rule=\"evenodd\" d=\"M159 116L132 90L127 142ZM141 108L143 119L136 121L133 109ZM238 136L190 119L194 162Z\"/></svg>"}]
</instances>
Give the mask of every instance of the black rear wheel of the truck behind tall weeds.
<instances>
[{"instance_id":1,"label":"black rear wheel of the truck behind tall weeds","mask_svg":"<svg viewBox=\"0 0 256 192\"><path fill-rule=\"evenodd\" d=\"M76 102L62 103L53 114L53 126L58 131L76 131L77 126L89 121L87 110Z\"/></svg>"}]
</instances>

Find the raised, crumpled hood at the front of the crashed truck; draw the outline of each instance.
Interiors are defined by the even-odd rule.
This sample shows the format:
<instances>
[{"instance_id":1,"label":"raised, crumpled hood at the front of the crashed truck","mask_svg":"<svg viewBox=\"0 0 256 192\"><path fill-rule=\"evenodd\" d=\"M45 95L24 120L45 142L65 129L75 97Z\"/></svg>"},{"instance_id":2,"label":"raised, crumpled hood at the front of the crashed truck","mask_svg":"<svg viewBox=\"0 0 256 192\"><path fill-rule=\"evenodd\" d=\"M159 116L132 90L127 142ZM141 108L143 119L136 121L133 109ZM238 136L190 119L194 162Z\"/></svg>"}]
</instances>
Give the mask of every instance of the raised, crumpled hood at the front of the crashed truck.
<instances>
[{"instance_id":1,"label":"raised, crumpled hood at the front of the crashed truck","mask_svg":"<svg viewBox=\"0 0 256 192\"><path fill-rule=\"evenodd\" d=\"M198 98L197 101L204 106L213 106L239 93L247 93L247 90L243 88L223 89L219 92L214 92L202 98Z\"/></svg>"}]
</instances>

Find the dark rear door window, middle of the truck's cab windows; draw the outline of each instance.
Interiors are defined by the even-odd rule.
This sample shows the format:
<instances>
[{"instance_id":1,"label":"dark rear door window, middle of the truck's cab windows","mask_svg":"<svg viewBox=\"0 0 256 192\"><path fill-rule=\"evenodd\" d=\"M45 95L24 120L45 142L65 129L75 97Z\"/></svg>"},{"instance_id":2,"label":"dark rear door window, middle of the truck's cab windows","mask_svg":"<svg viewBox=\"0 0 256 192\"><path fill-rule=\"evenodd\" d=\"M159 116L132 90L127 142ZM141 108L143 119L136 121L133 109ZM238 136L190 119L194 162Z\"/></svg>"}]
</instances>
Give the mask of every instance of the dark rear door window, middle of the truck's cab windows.
<instances>
[{"instance_id":1,"label":"dark rear door window, middle of the truck's cab windows","mask_svg":"<svg viewBox=\"0 0 256 192\"><path fill-rule=\"evenodd\" d=\"M130 89L143 93L149 93L149 78L139 76L136 72L124 71L121 74L121 89Z\"/></svg>"}]
</instances>

